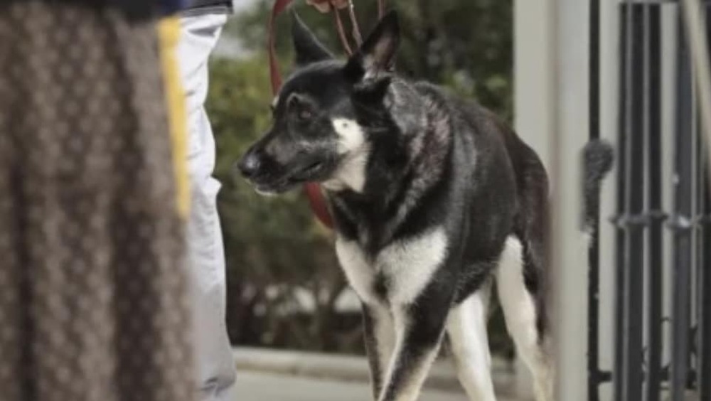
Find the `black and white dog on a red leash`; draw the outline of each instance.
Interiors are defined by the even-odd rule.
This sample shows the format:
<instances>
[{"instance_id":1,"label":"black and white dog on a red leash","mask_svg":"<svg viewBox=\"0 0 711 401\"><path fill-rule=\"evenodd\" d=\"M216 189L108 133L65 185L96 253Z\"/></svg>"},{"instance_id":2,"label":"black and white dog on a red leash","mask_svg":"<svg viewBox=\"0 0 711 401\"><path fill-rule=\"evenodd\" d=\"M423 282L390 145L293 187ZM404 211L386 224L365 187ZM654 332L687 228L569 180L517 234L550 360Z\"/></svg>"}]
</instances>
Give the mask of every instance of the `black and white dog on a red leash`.
<instances>
[{"instance_id":1,"label":"black and white dog on a red leash","mask_svg":"<svg viewBox=\"0 0 711 401\"><path fill-rule=\"evenodd\" d=\"M298 68L274 99L273 127L237 166L260 193L326 189L376 400L416 400L445 337L471 400L495 400L493 284L536 398L550 400L545 169L488 110L396 75L398 30L387 14L339 61L294 18Z\"/></svg>"}]
</instances>

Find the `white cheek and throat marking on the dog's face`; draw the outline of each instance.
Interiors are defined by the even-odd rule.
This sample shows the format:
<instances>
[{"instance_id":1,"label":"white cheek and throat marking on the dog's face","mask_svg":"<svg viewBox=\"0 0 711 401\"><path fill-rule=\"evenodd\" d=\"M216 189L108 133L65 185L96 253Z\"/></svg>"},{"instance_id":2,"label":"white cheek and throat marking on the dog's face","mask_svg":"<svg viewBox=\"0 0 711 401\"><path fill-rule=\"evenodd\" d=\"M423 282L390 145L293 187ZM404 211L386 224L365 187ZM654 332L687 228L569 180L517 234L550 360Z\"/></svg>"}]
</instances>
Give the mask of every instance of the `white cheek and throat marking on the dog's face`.
<instances>
[{"instance_id":1,"label":"white cheek and throat marking on the dog's face","mask_svg":"<svg viewBox=\"0 0 711 401\"><path fill-rule=\"evenodd\" d=\"M344 159L331 179L324 182L324 187L331 191L351 188L361 192L365 186L365 166L370 153L363 129L352 119L337 118L331 123L338 134L338 154Z\"/></svg>"}]
</instances>

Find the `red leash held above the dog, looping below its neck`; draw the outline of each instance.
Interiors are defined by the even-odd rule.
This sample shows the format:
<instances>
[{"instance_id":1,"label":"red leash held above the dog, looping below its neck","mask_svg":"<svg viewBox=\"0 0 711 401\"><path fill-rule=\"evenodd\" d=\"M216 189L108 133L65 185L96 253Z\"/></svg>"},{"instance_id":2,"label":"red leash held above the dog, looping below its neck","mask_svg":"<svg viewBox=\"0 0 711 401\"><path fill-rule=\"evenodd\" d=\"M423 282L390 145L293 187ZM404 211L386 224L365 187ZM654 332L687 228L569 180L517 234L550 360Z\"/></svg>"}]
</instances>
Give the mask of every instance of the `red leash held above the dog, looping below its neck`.
<instances>
[{"instance_id":1,"label":"red leash held above the dog, looping below its neck","mask_svg":"<svg viewBox=\"0 0 711 401\"><path fill-rule=\"evenodd\" d=\"M269 78L272 81L272 93L276 96L279 92L279 88L282 87L282 77L279 75L279 65L277 65L276 51L274 50L274 20L277 16L284 11L284 9L289 6L292 0L275 0L274 6L272 7L272 14L269 15L269 23L267 26L268 38L268 56L269 56ZM331 6L333 11L333 18L336 23L336 28L338 29L338 36L341 37L341 43L343 43L343 48L346 50L348 55L351 55L351 46L348 45L348 38L346 38L346 33L343 28L343 23L341 22L341 14L335 6ZM348 15L351 17L351 26L353 26L353 38L355 38L356 46L360 46L363 39L360 37L360 29L358 28L358 21L355 19L355 11L353 10L353 0L348 0ZM378 0L378 16L383 17L384 6L383 0ZM321 192L321 187L318 183L306 183L304 184L304 191L306 196L309 198L309 204L311 205L311 210L314 211L316 218L323 223L328 228L333 228L333 219L331 218L331 213L328 212L328 206L326 206L326 199L324 198L324 193Z\"/></svg>"}]
</instances>

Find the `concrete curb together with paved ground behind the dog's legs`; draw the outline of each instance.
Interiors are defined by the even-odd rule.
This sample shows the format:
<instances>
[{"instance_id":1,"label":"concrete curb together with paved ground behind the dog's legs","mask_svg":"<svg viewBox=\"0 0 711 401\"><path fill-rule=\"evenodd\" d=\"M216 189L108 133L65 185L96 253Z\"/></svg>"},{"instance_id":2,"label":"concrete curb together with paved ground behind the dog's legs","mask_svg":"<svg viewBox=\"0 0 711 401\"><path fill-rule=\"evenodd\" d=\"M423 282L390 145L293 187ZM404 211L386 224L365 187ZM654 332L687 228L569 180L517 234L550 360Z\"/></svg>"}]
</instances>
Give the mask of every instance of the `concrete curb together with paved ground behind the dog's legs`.
<instances>
[{"instance_id":1,"label":"concrete curb together with paved ground behind the dog's legs","mask_svg":"<svg viewBox=\"0 0 711 401\"><path fill-rule=\"evenodd\" d=\"M235 348L238 401L368 401L365 358L267 348ZM512 367L496 358L492 376L498 401L529 401L517 390ZM524 392L525 393L525 392ZM419 401L468 401L449 360L437 360Z\"/></svg>"}]
</instances>

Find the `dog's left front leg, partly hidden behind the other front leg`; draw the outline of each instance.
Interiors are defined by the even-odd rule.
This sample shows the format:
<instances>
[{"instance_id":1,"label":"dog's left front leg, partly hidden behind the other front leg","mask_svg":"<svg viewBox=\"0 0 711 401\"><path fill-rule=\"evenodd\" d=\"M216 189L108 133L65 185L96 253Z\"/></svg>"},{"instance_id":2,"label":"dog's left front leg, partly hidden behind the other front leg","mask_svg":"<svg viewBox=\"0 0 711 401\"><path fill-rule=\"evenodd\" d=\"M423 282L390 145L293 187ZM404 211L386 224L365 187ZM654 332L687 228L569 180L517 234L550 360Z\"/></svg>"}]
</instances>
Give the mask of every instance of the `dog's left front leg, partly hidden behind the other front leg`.
<instances>
[{"instance_id":1,"label":"dog's left front leg, partly hidden behind the other front leg","mask_svg":"<svg viewBox=\"0 0 711 401\"><path fill-rule=\"evenodd\" d=\"M377 400L392 350L395 348L395 324L385 306L363 304L363 334L370 364L373 399Z\"/></svg>"}]
</instances>

